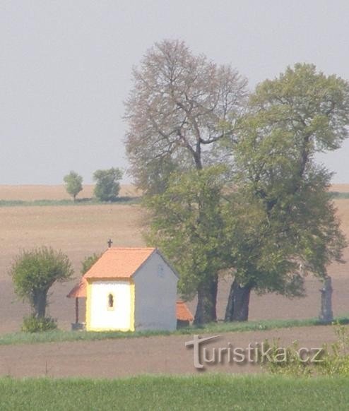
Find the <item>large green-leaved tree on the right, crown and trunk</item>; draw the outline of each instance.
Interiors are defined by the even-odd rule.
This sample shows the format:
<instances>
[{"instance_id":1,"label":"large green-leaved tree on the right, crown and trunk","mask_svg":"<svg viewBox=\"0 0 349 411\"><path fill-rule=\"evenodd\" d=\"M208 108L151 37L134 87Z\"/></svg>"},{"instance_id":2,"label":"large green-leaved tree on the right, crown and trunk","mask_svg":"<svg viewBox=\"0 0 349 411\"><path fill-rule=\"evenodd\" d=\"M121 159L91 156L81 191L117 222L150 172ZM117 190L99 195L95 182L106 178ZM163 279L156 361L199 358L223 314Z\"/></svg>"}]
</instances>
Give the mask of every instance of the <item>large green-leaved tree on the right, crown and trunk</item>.
<instances>
[{"instance_id":1,"label":"large green-leaved tree on the right, crown and trunk","mask_svg":"<svg viewBox=\"0 0 349 411\"><path fill-rule=\"evenodd\" d=\"M326 278L326 266L342 262L331 173L314 156L338 148L348 124L348 83L311 64L287 68L250 97L233 148L235 278L226 320L247 320L252 289L302 295L305 275Z\"/></svg>"}]
</instances>

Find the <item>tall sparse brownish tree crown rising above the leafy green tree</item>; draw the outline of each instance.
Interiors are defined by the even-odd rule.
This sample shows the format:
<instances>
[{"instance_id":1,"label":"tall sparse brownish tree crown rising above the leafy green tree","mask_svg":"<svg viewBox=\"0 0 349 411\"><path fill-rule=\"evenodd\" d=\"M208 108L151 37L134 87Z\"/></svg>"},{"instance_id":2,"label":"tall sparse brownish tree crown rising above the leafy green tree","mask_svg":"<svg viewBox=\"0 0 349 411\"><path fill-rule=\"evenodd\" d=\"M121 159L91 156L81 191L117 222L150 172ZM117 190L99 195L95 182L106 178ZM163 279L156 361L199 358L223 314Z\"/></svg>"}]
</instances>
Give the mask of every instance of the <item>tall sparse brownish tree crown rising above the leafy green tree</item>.
<instances>
[{"instance_id":1,"label":"tall sparse brownish tree crown rising above the leafy green tree","mask_svg":"<svg viewBox=\"0 0 349 411\"><path fill-rule=\"evenodd\" d=\"M232 139L247 93L247 81L235 69L192 54L184 42L165 40L148 50L133 76L126 153L139 189L162 193L174 172L223 162L220 147ZM207 290L215 292L199 294L206 302L217 294L217 277L210 281ZM205 305L203 316L214 321L209 312L215 301L199 304Z\"/></svg>"}]
</instances>

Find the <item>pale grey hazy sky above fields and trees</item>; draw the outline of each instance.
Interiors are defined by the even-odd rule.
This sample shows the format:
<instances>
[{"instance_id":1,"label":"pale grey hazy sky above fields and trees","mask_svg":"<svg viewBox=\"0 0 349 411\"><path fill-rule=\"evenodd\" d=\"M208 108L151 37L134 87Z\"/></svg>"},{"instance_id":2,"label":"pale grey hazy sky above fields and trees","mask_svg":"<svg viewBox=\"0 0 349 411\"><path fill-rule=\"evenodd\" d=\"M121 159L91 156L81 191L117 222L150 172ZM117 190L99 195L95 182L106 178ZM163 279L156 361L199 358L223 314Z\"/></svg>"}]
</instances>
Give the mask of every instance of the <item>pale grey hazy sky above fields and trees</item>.
<instances>
[{"instance_id":1,"label":"pale grey hazy sky above fields and trees","mask_svg":"<svg viewBox=\"0 0 349 411\"><path fill-rule=\"evenodd\" d=\"M0 0L0 184L127 167L131 67L179 38L250 87L312 62L349 79L348 0ZM321 160L349 182L349 141Z\"/></svg>"}]
</instances>

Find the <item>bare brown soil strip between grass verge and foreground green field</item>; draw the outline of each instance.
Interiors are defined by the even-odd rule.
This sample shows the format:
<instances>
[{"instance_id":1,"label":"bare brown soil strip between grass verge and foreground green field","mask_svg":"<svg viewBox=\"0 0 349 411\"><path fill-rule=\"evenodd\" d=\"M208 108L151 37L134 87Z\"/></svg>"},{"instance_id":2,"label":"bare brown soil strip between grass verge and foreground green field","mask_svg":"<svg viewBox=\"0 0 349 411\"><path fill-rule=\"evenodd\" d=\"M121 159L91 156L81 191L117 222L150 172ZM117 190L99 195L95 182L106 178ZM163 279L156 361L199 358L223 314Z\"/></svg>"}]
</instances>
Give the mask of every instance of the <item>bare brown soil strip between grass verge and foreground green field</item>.
<instances>
[{"instance_id":1,"label":"bare brown soil strip between grass verge and foreground green field","mask_svg":"<svg viewBox=\"0 0 349 411\"><path fill-rule=\"evenodd\" d=\"M225 333L205 345L208 358L212 348L256 346L264 340L280 339L279 347L294 340L299 347L321 348L335 340L332 326L283 328L271 331ZM201 374L193 364L193 349L185 347L191 335L171 335L119 340L56 342L0 347L0 376L88 376L117 378L137 374ZM208 364L206 372L259 373L257 364L227 362Z\"/></svg>"}]
</instances>

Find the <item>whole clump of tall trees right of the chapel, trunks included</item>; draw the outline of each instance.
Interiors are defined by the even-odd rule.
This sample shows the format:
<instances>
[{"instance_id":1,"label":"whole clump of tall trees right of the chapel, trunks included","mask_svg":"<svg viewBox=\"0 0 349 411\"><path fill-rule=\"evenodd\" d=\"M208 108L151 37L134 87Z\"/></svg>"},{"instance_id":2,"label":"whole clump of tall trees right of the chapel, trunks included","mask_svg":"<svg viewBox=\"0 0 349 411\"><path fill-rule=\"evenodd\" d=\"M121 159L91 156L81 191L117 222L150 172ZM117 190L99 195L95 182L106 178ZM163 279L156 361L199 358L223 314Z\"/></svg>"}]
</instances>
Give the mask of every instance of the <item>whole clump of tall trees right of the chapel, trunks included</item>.
<instances>
[{"instance_id":1,"label":"whole clump of tall trees right of the chapel, trunks included","mask_svg":"<svg viewBox=\"0 0 349 411\"><path fill-rule=\"evenodd\" d=\"M256 86L183 42L156 43L126 102L131 174L147 195L148 241L196 292L196 322L215 319L218 271L234 280L225 318L246 320L249 296L304 294L324 279L345 237L316 162L348 137L349 85L312 64ZM218 165L225 169L218 169Z\"/></svg>"}]
</instances>

